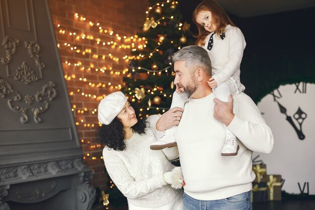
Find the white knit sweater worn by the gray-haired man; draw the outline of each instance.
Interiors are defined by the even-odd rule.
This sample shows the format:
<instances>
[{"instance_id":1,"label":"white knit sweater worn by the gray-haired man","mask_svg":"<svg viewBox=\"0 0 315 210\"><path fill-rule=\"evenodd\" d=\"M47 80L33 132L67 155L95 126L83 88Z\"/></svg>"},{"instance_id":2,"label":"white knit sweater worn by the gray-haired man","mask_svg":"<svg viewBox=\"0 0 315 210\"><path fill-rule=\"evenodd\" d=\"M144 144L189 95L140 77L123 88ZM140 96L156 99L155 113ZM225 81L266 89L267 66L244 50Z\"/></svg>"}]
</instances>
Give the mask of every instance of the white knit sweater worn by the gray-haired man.
<instances>
[{"instance_id":1,"label":"white knit sweater worn by the gray-haired man","mask_svg":"<svg viewBox=\"0 0 315 210\"><path fill-rule=\"evenodd\" d=\"M214 94L190 99L175 131L178 145L165 149L168 158L180 156L184 191L200 200L216 200L252 189L252 151L270 153L273 136L257 106L244 93L233 97L236 114L227 128L238 137L237 156L221 156L225 129L213 117Z\"/></svg>"}]
</instances>

